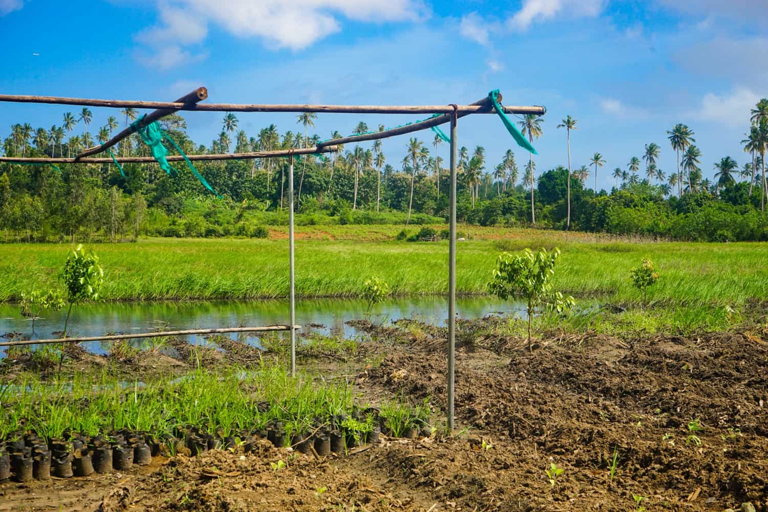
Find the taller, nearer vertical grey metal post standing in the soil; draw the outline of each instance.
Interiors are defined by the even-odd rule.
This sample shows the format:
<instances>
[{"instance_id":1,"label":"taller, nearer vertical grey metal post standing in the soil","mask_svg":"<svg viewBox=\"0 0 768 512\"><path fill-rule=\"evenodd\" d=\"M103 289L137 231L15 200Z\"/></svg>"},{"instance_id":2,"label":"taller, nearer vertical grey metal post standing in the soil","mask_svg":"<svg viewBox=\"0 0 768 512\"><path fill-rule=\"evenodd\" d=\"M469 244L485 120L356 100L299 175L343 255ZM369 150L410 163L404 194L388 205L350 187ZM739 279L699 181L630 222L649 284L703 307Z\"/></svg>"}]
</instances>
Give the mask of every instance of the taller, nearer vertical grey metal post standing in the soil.
<instances>
[{"instance_id":1,"label":"taller, nearer vertical grey metal post standing in the soil","mask_svg":"<svg viewBox=\"0 0 768 512\"><path fill-rule=\"evenodd\" d=\"M454 105L455 108L455 105ZM448 250L448 430L453 431L453 395L455 369L456 326L456 125L458 116L451 117L451 220Z\"/></svg>"}]
</instances>

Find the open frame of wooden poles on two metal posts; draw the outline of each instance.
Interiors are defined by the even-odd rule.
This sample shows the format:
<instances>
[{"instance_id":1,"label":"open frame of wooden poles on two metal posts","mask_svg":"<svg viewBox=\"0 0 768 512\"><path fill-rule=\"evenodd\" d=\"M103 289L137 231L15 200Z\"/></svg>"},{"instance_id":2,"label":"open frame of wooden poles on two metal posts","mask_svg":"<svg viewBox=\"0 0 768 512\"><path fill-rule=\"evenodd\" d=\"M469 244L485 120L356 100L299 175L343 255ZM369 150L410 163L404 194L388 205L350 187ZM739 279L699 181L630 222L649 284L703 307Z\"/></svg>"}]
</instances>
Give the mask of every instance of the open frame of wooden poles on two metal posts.
<instances>
[{"instance_id":1,"label":"open frame of wooden poles on two metal posts","mask_svg":"<svg viewBox=\"0 0 768 512\"><path fill-rule=\"evenodd\" d=\"M468 105L316 105L316 104L204 104L201 101L208 97L207 88L200 87L194 89L188 94L172 102L159 101L125 101L125 100L101 100L89 98L73 97L54 97L54 96L25 96L18 94L0 94L0 101L16 103L40 103L40 104L66 104L79 105L84 107L133 107L133 108L154 108L150 114L141 117L134 127L127 127L119 134L116 134L110 140L82 151L74 158L25 158L25 157L0 157L0 162L8 163L35 163L35 164L101 164L111 162L111 158L89 158L93 154L101 153L104 150L118 144L125 137L128 137L136 128L147 126L153 121L162 117L174 114L177 111L197 111L197 112L316 112L316 113L334 113L334 114L432 114L432 117L423 121L404 124L399 127L372 132L368 134L353 135L350 137L341 137L333 140L325 140L316 147L303 149L279 150L279 151L260 151L257 153L243 154L216 154L216 155L189 155L190 160L239 160L253 158L274 158L289 157L290 164L288 170L288 204L289 204L289 266L290 266L290 325L272 326L271 328L231 328L231 329L197 329L196 331L210 332L254 332L260 330L290 330L290 365L291 375L296 375L296 290L295 290L295 265L294 265L294 230L293 230L293 156L299 154L316 154L335 151L339 144L349 144L363 142L366 140L378 140L397 135L409 134L419 130L436 127L440 124L450 123L451 140L451 193L450 193L450 219L449 219L449 303L448 303L448 428L452 430L454 423L454 390L455 390L455 309L456 309L456 167L458 163L458 144L457 144L457 126L458 119L470 114L495 114L495 107L489 97L484 97ZM501 104L502 95L498 94L498 103ZM504 106L505 114L538 114L544 115L547 111L545 107L540 106ZM118 162L152 162L152 157L118 157ZM169 156L169 161L183 160L183 157ZM233 330L234 329L234 330ZM193 334L190 331L177 331L187 334ZM134 338L149 337L153 333L144 333L144 335L126 335ZM172 335L171 332L154 333L154 335ZM112 339L108 336L93 337L88 341L98 341L103 339ZM62 342L75 341L77 339L66 340L43 340L44 342ZM86 339L80 339L86 341ZM35 342L33 342L35 343ZM36 343L40 343L38 340ZM7 345L7 344L2 344Z\"/></svg>"}]
</instances>

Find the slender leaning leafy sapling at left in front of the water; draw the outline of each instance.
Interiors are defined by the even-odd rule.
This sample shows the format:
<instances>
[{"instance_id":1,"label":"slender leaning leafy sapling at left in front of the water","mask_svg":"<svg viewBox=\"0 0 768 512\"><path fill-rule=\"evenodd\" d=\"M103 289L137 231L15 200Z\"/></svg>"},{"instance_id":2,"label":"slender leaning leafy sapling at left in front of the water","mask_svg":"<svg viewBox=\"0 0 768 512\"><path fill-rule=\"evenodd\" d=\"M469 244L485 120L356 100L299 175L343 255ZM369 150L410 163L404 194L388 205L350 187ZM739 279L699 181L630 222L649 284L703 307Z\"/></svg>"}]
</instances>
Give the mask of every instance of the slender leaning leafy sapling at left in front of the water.
<instances>
[{"instance_id":1,"label":"slender leaning leafy sapling at left in front of the water","mask_svg":"<svg viewBox=\"0 0 768 512\"><path fill-rule=\"evenodd\" d=\"M98 263L98 256L94 253L86 254L82 245L77 246L69 253L61 269L61 282L64 283L69 304L62 334L66 338L72 306L78 302L99 299L101 285L104 283L104 269Z\"/></svg>"}]
</instances>

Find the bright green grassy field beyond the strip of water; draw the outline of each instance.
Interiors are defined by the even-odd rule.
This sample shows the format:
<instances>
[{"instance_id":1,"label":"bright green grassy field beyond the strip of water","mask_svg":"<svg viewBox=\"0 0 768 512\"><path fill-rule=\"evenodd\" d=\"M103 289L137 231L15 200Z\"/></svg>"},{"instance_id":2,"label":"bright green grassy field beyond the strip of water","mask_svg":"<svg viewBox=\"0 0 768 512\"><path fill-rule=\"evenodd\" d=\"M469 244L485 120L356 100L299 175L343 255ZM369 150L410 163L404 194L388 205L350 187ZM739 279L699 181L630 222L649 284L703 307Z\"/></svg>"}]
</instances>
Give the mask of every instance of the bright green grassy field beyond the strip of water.
<instances>
[{"instance_id":1,"label":"bright green grassy field beyond the strip of water","mask_svg":"<svg viewBox=\"0 0 768 512\"><path fill-rule=\"evenodd\" d=\"M444 294L448 244L393 239L402 226L310 226L296 243L296 292L300 297L359 296L362 283L379 276L397 295ZM412 230L415 233L415 229ZM457 289L485 293L502 250L558 246L555 282L574 296L613 302L640 298L629 270L649 255L660 282L651 301L737 306L768 296L768 246L762 243L629 242L583 233L473 228L458 243ZM274 233L279 236L279 233ZM376 241L369 241L375 239ZM68 244L0 245L0 301L50 286ZM106 300L253 299L288 294L288 243L272 239L144 239L87 246L101 258Z\"/></svg>"}]
</instances>

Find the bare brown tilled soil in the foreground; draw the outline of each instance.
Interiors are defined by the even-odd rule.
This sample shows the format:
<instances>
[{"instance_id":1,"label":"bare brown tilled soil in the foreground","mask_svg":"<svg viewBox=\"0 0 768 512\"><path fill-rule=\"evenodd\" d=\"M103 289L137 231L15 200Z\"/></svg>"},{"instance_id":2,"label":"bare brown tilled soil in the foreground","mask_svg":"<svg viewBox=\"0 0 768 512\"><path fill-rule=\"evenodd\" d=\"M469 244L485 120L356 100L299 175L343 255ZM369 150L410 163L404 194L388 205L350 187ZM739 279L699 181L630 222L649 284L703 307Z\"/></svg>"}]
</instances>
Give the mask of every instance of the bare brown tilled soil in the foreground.
<instances>
[{"instance_id":1,"label":"bare brown tilled soil in the foreground","mask_svg":"<svg viewBox=\"0 0 768 512\"><path fill-rule=\"evenodd\" d=\"M768 511L766 332L552 332L527 352L520 340L478 329L492 322L461 326L454 437L385 438L319 458L265 443L252 454L158 459L142 472L9 482L0 484L0 511L638 510L633 495L647 512L745 502ZM368 327L385 355L357 365L362 400L444 405L442 329ZM211 364L230 351L240 364L255 358L228 347ZM550 482L553 463L563 471Z\"/></svg>"}]
</instances>

